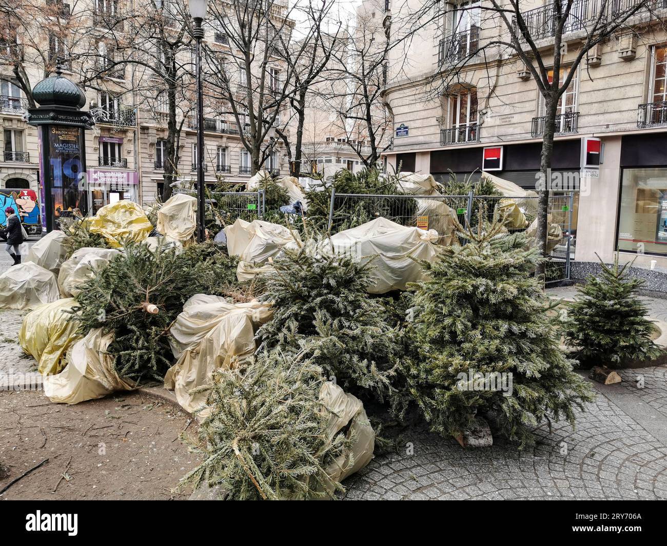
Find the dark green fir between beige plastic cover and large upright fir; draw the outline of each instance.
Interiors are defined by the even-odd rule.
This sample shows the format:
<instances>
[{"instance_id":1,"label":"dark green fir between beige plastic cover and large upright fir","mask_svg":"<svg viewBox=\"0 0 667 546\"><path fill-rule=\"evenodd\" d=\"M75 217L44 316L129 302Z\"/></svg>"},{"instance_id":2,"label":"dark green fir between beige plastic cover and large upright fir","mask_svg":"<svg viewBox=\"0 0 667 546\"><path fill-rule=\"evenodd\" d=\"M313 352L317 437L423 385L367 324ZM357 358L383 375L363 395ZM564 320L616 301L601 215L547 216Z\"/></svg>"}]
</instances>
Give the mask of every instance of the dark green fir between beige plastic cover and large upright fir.
<instances>
[{"instance_id":1,"label":"dark green fir between beige plastic cover and large upright fir","mask_svg":"<svg viewBox=\"0 0 667 546\"><path fill-rule=\"evenodd\" d=\"M387 323L381 298L366 292L370 265L303 246L285 249L265 279L273 319L257 332L261 349L309 346L327 376L354 394L392 392L398 332Z\"/></svg>"}]
</instances>

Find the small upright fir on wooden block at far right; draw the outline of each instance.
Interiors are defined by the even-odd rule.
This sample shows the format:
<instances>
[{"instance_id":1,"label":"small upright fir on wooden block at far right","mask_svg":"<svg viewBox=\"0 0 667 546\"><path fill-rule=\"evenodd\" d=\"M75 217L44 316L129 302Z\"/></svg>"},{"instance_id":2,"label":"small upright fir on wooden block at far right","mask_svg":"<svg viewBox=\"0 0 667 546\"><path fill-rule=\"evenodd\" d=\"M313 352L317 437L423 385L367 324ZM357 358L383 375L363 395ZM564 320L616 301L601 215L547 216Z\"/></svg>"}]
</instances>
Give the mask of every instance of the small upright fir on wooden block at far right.
<instances>
[{"instance_id":1,"label":"small upright fir on wooden block at far right","mask_svg":"<svg viewBox=\"0 0 667 546\"><path fill-rule=\"evenodd\" d=\"M639 298L643 281L628 275L632 263L600 263L600 276L591 275L577 290L582 299L567 308L566 341L583 364L618 367L628 360L650 360L662 354L651 340L653 323Z\"/></svg>"}]
</instances>

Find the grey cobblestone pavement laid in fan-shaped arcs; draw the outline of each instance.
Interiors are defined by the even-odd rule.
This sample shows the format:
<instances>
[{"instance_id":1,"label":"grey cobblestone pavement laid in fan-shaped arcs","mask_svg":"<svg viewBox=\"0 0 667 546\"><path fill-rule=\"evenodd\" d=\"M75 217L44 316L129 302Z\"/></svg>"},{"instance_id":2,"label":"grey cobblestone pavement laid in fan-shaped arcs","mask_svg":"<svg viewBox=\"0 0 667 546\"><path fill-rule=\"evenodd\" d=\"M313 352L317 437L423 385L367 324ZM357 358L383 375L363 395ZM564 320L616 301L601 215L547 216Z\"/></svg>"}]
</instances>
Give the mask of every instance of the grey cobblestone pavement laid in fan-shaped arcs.
<instances>
[{"instance_id":1,"label":"grey cobblestone pavement laid in fan-shaped arcs","mask_svg":"<svg viewBox=\"0 0 667 546\"><path fill-rule=\"evenodd\" d=\"M10 261L0 252L0 272ZM667 300L642 299L667 320ZM0 375L35 369L16 342L24 314L0 310ZM578 413L576 430L539 427L535 447L523 453L498 441L462 449L414 429L403 451L376 457L346 480L346 499L667 499L667 367L620 373L621 384L592 383L598 396Z\"/></svg>"}]
</instances>

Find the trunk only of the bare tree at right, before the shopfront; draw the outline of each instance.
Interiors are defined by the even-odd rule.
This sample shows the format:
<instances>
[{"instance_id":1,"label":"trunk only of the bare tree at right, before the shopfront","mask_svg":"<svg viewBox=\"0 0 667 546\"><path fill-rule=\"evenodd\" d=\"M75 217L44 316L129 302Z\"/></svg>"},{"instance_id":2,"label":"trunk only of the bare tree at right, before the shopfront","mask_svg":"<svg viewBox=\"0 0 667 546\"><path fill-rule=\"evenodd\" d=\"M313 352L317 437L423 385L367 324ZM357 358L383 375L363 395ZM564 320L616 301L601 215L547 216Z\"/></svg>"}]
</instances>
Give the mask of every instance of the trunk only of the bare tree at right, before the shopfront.
<instances>
[{"instance_id":1,"label":"trunk only of the bare tree at right, before the shopfront","mask_svg":"<svg viewBox=\"0 0 667 546\"><path fill-rule=\"evenodd\" d=\"M538 225L536 239L540 256L546 258L546 237L549 230L549 188L551 186L551 160L554 155L554 131L556 129L556 106L552 98L544 99L544 133L542 134L542 154L540 156L540 190L538 192ZM535 275L544 278L546 262L538 264Z\"/></svg>"}]
</instances>

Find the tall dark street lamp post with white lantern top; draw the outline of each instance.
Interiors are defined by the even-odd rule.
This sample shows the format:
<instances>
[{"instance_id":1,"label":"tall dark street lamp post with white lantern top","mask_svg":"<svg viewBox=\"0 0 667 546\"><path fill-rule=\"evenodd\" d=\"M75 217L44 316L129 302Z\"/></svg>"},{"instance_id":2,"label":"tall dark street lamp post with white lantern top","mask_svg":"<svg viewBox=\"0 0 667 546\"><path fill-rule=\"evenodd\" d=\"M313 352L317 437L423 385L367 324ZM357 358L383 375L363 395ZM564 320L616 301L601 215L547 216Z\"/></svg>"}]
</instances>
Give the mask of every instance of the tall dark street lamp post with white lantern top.
<instances>
[{"instance_id":1,"label":"tall dark street lamp post with white lantern top","mask_svg":"<svg viewBox=\"0 0 667 546\"><path fill-rule=\"evenodd\" d=\"M201 27L208 0L188 0L190 15L195 23L192 35L195 37L195 72L197 77L197 240L204 242L205 236L205 198L204 198L204 109L201 88L201 39L204 29Z\"/></svg>"}]
</instances>

